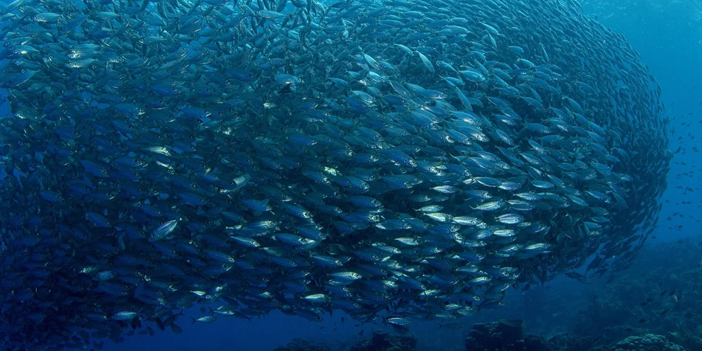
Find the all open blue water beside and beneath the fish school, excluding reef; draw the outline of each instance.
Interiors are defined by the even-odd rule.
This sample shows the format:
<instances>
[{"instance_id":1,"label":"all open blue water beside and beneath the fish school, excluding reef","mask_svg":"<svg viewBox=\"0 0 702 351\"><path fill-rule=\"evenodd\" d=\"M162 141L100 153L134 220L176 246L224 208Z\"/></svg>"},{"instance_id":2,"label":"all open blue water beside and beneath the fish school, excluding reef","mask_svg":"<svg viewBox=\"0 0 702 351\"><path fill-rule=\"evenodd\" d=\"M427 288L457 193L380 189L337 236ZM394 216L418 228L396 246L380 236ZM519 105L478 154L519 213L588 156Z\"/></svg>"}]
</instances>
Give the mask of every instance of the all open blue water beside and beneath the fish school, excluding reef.
<instances>
[{"instance_id":1,"label":"all open blue water beside and beneath the fish school, excluding reef","mask_svg":"<svg viewBox=\"0 0 702 351\"><path fill-rule=\"evenodd\" d=\"M698 151L702 149L702 11L695 0L587 0L582 1L582 6L589 16L622 33L640 52L643 63L662 86L662 100L672 121L670 149L679 151L674 154L668 189L661 199L660 221L645 244L646 249L655 251L662 243L689 238L691 241L677 246L679 250L699 251L699 246L685 243L702 241L701 154ZM5 103L0 103L0 113L8 113ZM635 265L646 266L652 259L638 255ZM615 274L636 273L628 270ZM559 278L526 292L510 291L506 306L466 318L464 328L439 328L437 322L413 323L410 333L419 338L418 350L450 351L465 350L463 339L473 323L499 318L522 318L529 332L546 337L568 332L573 327L570 322L578 315L578 307L585 307L592 301L593 294L600 288L599 283L582 284ZM651 288L657 289L656 292L664 289L657 284L652 282ZM185 311L185 314L200 315L198 311ZM153 337L134 335L119 344L105 341L103 350L258 351L272 350L294 338L328 343L332 350L346 350L356 340L369 337L372 330L389 330L379 324L362 325L342 313L328 315L320 323L282 313L251 321L220 318L216 323L191 325L188 320L180 321L183 328L180 335L168 330L156 331Z\"/></svg>"}]
</instances>

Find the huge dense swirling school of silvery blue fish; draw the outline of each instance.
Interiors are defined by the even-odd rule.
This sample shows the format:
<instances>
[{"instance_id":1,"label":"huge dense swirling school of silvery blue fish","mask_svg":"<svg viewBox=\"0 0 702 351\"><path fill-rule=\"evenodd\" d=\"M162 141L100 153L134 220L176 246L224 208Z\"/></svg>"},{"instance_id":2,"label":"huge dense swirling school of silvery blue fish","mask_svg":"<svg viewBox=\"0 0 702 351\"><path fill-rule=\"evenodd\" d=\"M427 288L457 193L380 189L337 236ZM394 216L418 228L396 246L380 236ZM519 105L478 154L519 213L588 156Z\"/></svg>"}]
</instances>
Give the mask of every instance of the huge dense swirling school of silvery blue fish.
<instances>
[{"instance_id":1,"label":"huge dense swirling school of silvery blue fish","mask_svg":"<svg viewBox=\"0 0 702 351\"><path fill-rule=\"evenodd\" d=\"M616 272L657 221L660 88L575 0L16 0L0 23L7 350L178 333L200 304L449 323Z\"/></svg>"}]
</instances>

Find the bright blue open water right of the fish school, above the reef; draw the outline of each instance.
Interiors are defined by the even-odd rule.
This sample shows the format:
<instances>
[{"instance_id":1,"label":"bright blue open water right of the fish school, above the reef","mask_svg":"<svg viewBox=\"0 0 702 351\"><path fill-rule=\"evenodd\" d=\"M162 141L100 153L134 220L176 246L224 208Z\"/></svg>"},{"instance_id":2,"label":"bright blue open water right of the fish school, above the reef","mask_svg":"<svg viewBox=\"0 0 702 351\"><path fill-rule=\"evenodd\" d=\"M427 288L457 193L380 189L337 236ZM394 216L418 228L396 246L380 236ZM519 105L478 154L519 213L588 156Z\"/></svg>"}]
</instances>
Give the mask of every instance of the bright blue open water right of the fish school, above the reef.
<instances>
[{"instance_id":1,"label":"bright blue open water right of the fish school, above the reef","mask_svg":"<svg viewBox=\"0 0 702 351\"><path fill-rule=\"evenodd\" d=\"M670 149L681 148L671 163L655 236L664 241L699 238L701 154L694 147L701 146L702 137L702 11L694 0L608 3L582 2L587 13L622 33L641 54L662 87L662 101L672 121Z\"/></svg>"}]
</instances>

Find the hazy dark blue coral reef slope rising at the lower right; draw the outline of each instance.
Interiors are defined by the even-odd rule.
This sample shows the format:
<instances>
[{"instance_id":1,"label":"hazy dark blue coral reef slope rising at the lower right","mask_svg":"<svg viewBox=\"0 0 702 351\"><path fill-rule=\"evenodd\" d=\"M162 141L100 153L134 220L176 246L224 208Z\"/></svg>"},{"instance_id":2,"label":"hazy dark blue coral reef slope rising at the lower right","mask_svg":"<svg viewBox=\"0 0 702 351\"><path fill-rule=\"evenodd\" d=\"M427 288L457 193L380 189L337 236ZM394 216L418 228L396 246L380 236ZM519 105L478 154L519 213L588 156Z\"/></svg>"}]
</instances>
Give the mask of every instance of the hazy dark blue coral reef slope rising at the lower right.
<instances>
[{"instance_id":1,"label":"hazy dark blue coral reef slope rising at the lower right","mask_svg":"<svg viewBox=\"0 0 702 351\"><path fill-rule=\"evenodd\" d=\"M702 350L702 343L687 337L700 335L702 325L697 267L701 248L697 240L643 248L639 255L645 260L604 284L589 287L592 299L576 308L580 312L572 318L572 332L599 338L607 345L629 335L666 335L689 350Z\"/></svg>"}]
</instances>

